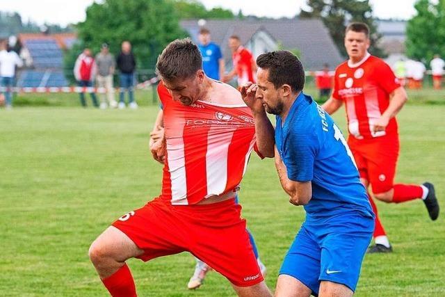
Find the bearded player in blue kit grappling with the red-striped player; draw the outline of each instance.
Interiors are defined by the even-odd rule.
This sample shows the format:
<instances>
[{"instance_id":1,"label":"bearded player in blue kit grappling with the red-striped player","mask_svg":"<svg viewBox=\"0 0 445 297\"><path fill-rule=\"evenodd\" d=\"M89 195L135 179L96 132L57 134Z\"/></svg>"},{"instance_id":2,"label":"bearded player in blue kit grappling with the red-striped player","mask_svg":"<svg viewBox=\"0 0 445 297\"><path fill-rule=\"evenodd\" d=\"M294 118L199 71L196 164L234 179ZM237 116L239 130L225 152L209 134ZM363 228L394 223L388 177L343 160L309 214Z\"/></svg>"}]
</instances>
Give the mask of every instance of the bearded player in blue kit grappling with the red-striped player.
<instances>
[{"instance_id":1,"label":"bearded player in blue kit grappling with the red-striped player","mask_svg":"<svg viewBox=\"0 0 445 297\"><path fill-rule=\"evenodd\" d=\"M257 58L257 85L241 93L254 113L257 143L270 143L289 202L306 220L287 252L275 296L353 296L374 230L366 190L340 129L302 93L305 72L289 51Z\"/></svg>"}]
</instances>

